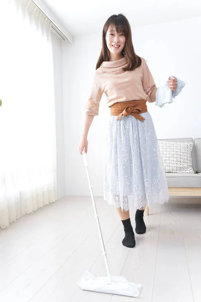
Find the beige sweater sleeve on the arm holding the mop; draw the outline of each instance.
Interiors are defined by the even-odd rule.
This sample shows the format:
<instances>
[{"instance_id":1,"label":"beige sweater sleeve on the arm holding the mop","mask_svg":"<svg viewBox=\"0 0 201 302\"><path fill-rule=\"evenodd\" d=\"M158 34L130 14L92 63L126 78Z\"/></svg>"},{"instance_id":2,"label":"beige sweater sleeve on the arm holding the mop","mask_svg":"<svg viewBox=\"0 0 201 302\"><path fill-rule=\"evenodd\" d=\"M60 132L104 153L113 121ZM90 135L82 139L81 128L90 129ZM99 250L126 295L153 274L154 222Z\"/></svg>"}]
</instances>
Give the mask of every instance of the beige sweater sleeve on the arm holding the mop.
<instances>
[{"instance_id":1,"label":"beige sweater sleeve on the arm holding the mop","mask_svg":"<svg viewBox=\"0 0 201 302\"><path fill-rule=\"evenodd\" d=\"M100 74L95 72L93 75L91 91L89 98L85 104L85 114L98 115L100 99L103 95L103 89L99 79Z\"/></svg>"}]
</instances>

